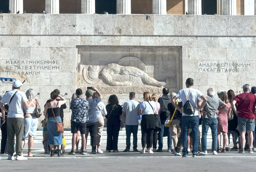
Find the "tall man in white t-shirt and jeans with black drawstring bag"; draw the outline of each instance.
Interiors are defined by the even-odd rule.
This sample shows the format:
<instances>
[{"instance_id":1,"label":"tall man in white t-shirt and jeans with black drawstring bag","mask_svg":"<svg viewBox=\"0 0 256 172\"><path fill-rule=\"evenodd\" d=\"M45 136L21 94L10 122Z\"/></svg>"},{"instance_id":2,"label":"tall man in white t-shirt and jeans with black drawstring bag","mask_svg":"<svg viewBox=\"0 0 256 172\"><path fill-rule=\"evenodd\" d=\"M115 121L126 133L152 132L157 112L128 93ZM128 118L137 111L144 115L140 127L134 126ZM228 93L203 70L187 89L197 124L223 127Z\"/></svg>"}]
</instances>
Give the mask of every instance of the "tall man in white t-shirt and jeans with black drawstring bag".
<instances>
[{"instance_id":1,"label":"tall man in white t-shirt and jeans with black drawstring bag","mask_svg":"<svg viewBox=\"0 0 256 172\"><path fill-rule=\"evenodd\" d=\"M172 104L182 113L182 146L183 146L183 157L188 156L188 130L191 125L192 127L192 139L193 139L193 150L192 150L192 157L197 156L198 151L198 127L199 127L199 114L198 110L202 110L204 105L207 102L205 96L197 89L192 88L194 85L194 80L192 78L188 78L186 80L186 88L181 89L172 99ZM194 113L193 114L185 114L183 112L183 108L180 108L176 103L175 100L180 98L182 100L182 104L186 103L187 100L190 101L191 105L193 106ZM198 108L196 107L196 103L198 98L203 100L201 106Z\"/></svg>"}]
</instances>

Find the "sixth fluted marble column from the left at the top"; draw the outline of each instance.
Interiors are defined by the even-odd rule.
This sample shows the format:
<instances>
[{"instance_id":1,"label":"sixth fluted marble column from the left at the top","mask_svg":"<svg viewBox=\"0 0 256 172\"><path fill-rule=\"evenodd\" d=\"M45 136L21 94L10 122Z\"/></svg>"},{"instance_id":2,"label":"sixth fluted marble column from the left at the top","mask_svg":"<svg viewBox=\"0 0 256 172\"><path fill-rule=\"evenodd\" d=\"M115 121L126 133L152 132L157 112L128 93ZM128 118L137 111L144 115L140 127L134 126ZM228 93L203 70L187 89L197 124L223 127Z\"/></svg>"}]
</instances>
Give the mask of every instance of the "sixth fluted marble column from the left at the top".
<instances>
[{"instance_id":1,"label":"sixth fluted marble column from the left at the top","mask_svg":"<svg viewBox=\"0 0 256 172\"><path fill-rule=\"evenodd\" d=\"M185 12L188 14L202 15L202 0L185 0Z\"/></svg>"}]
</instances>

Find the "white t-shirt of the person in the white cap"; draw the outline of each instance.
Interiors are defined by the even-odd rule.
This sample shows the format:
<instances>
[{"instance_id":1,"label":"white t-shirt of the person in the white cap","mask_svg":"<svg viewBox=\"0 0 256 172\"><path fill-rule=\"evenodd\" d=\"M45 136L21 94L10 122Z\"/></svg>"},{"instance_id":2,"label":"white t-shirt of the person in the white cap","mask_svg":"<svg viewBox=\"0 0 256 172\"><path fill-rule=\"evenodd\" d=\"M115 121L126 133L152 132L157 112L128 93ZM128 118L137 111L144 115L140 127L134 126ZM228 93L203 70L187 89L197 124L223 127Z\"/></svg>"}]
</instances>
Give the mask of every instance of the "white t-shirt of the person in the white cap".
<instances>
[{"instance_id":1,"label":"white t-shirt of the person in the white cap","mask_svg":"<svg viewBox=\"0 0 256 172\"><path fill-rule=\"evenodd\" d=\"M15 94L15 92L17 93ZM9 104L13 94L15 95L11 100L11 104ZM23 103L28 101L25 93L19 91L18 89L13 89L4 94L0 101L3 104L9 105L8 118L24 118Z\"/></svg>"}]
</instances>

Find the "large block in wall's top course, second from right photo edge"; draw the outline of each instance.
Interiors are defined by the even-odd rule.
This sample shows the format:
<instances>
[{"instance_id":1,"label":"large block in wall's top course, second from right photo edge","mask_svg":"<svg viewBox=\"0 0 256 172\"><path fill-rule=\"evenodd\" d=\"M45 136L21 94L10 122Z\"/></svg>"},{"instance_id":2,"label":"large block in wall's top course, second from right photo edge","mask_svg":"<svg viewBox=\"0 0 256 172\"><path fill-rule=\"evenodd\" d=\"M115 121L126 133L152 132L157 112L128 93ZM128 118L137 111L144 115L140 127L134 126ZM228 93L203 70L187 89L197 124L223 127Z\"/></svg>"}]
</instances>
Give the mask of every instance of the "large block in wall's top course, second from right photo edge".
<instances>
[{"instance_id":1,"label":"large block in wall's top course, second from right photo edge","mask_svg":"<svg viewBox=\"0 0 256 172\"><path fill-rule=\"evenodd\" d=\"M250 17L243 15L230 16L230 35L250 35Z\"/></svg>"}]
</instances>

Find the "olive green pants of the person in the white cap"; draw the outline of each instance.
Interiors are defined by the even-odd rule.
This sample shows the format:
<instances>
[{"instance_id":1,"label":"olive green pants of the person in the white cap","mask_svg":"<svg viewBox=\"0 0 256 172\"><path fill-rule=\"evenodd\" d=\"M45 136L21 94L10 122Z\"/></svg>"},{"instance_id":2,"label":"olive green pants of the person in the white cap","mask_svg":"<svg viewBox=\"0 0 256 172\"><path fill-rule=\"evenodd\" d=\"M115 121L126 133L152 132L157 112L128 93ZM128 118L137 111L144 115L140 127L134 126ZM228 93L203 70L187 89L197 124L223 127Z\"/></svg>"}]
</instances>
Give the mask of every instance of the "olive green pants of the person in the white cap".
<instances>
[{"instance_id":1,"label":"olive green pants of the person in the white cap","mask_svg":"<svg viewBox=\"0 0 256 172\"><path fill-rule=\"evenodd\" d=\"M14 153L14 136L16 136L16 154L21 155L21 140L24 132L24 118L7 118L8 153Z\"/></svg>"}]
</instances>

